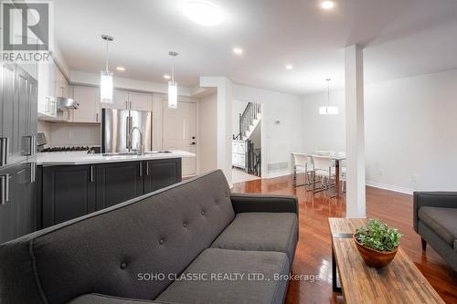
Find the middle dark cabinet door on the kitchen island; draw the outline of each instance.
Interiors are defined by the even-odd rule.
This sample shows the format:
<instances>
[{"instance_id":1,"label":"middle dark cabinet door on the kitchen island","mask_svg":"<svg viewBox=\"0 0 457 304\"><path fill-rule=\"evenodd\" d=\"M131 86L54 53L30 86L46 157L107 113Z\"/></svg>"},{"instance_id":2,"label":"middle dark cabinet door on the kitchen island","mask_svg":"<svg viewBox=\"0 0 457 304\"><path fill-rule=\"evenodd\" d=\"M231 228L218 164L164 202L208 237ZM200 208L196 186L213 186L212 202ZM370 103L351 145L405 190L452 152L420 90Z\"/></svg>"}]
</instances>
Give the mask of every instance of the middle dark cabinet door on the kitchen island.
<instances>
[{"instance_id":1,"label":"middle dark cabinet door on the kitchen island","mask_svg":"<svg viewBox=\"0 0 457 304\"><path fill-rule=\"evenodd\" d=\"M143 195L143 162L96 165L97 210Z\"/></svg>"}]
</instances>

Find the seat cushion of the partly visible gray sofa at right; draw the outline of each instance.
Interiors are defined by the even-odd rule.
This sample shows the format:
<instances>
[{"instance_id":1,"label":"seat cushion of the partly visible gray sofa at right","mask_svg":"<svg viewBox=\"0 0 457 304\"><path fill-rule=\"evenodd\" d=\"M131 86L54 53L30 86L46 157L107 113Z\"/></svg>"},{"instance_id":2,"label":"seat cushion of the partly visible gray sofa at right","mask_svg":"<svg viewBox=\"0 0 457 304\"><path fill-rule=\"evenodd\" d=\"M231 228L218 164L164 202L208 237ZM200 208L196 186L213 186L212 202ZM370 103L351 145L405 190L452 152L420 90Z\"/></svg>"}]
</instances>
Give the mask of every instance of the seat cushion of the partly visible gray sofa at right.
<instances>
[{"instance_id":1,"label":"seat cushion of the partly visible gray sofa at right","mask_svg":"<svg viewBox=\"0 0 457 304\"><path fill-rule=\"evenodd\" d=\"M455 249L457 208L420 207L418 216L425 225Z\"/></svg>"}]
</instances>

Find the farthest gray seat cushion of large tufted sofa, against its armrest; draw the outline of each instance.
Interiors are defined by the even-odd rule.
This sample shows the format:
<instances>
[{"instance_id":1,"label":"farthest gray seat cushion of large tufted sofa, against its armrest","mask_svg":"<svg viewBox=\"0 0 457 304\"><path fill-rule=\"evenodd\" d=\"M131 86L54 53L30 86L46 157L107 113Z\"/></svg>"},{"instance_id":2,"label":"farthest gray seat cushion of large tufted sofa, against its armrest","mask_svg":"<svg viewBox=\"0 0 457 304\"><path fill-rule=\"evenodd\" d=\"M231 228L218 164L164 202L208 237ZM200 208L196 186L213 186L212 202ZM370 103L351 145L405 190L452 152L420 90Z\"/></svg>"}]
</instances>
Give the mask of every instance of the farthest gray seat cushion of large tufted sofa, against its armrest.
<instances>
[{"instance_id":1,"label":"farthest gray seat cushion of large tufted sofa, against its armrest","mask_svg":"<svg viewBox=\"0 0 457 304\"><path fill-rule=\"evenodd\" d=\"M291 213L239 213L211 247L279 251L293 260L297 244L297 215Z\"/></svg>"}]
</instances>

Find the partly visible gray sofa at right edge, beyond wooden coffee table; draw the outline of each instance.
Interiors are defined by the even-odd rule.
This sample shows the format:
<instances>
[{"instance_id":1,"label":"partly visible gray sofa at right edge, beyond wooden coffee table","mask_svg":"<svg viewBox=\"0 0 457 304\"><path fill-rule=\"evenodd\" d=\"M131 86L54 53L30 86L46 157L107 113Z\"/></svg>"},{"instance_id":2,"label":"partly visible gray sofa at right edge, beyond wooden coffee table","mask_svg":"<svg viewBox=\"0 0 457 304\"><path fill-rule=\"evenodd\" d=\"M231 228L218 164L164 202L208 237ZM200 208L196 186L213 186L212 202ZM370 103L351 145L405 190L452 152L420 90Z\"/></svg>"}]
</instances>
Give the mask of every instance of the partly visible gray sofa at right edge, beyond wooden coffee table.
<instances>
[{"instance_id":1,"label":"partly visible gray sofa at right edge, beyond wooden coffee table","mask_svg":"<svg viewBox=\"0 0 457 304\"><path fill-rule=\"evenodd\" d=\"M457 271L457 193L414 193L414 230Z\"/></svg>"}]
</instances>

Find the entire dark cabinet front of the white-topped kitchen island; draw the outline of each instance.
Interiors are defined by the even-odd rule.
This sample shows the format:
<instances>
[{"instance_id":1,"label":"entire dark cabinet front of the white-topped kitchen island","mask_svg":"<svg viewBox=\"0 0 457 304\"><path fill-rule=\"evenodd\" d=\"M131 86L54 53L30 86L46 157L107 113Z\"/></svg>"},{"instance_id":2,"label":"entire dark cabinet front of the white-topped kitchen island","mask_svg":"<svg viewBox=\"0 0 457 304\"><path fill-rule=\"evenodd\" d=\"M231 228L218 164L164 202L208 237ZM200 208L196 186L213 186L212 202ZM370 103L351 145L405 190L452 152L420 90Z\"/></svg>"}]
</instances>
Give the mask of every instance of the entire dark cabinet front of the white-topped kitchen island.
<instances>
[{"instance_id":1,"label":"entire dark cabinet front of the white-topped kitchen island","mask_svg":"<svg viewBox=\"0 0 457 304\"><path fill-rule=\"evenodd\" d=\"M41 228L181 182L181 159L40 167Z\"/></svg>"}]
</instances>

